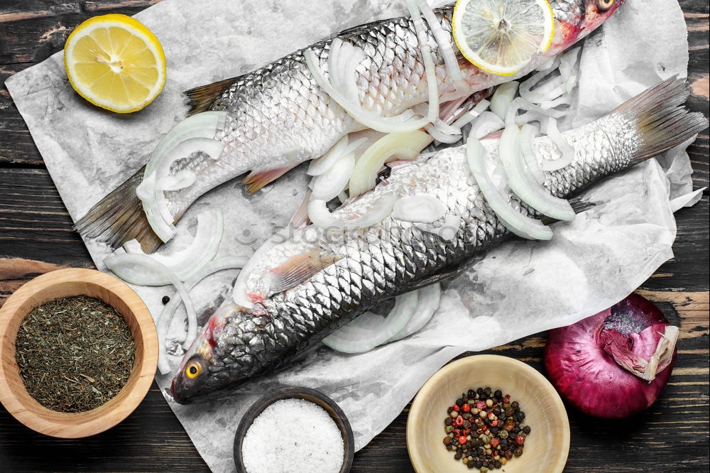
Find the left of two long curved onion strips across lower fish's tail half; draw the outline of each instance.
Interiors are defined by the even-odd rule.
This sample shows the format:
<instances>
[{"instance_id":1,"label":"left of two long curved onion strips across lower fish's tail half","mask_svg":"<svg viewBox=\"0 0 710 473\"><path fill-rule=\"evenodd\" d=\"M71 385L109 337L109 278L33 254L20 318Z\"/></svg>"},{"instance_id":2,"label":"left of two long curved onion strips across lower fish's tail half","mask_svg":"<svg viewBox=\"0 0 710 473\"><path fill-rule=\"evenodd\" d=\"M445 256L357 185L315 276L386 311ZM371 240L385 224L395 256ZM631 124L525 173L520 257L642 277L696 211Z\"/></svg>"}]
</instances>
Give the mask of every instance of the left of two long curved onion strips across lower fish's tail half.
<instances>
[{"instance_id":1,"label":"left of two long curved onion strips across lower fish's tail half","mask_svg":"<svg viewBox=\"0 0 710 473\"><path fill-rule=\"evenodd\" d=\"M466 158L486 202L510 232L528 239L552 239L550 227L514 210L508 203L508 196L493 185L486 165L486 149L481 145L481 141L473 136L466 141Z\"/></svg>"}]
</instances>

